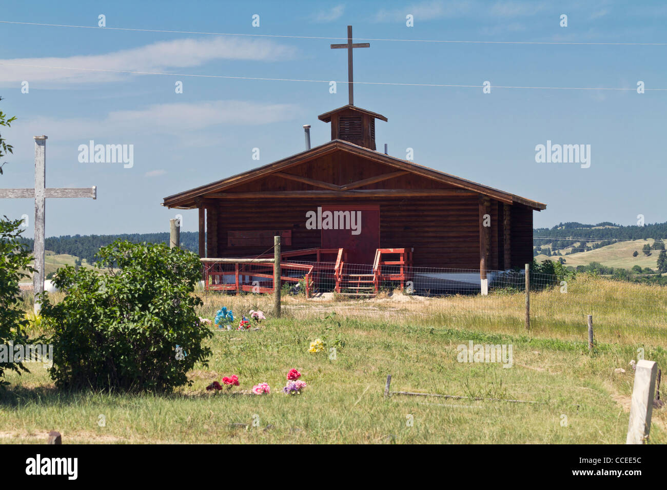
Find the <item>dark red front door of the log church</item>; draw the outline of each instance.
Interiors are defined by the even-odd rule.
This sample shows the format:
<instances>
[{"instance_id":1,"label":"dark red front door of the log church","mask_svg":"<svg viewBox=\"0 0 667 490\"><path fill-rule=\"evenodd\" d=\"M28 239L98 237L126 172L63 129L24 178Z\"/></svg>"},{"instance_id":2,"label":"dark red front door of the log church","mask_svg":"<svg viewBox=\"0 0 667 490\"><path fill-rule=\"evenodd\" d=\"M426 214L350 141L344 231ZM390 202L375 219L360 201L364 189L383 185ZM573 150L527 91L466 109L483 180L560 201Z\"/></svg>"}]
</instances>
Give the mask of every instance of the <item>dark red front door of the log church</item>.
<instances>
[{"instance_id":1,"label":"dark red front door of the log church","mask_svg":"<svg viewBox=\"0 0 667 490\"><path fill-rule=\"evenodd\" d=\"M343 248L349 264L372 265L380 247L380 207L322 206L321 213L322 248Z\"/></svg>"}]
</instances>

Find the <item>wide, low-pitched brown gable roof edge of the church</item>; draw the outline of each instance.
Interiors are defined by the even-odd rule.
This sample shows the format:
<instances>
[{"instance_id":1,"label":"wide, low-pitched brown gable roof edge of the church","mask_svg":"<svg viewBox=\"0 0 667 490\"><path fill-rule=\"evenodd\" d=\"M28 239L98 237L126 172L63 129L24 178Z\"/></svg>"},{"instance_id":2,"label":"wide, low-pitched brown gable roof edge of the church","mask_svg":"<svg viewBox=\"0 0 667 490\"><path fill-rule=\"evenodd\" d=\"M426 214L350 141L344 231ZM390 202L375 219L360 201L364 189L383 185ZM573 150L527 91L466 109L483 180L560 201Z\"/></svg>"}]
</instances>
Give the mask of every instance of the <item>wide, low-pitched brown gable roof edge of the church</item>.
<instances>
[{"instance_id":1,"label":"wide, low-pitched brown gable roof edge of the church","mask_svg":"<svg viewBox=\"0 0 667 490\"><path fill-rule=\"evenodd\" d=\"M249 171L227 177L226 179L221 179L219 181L195 187L194 189L189 189L188 191L170 195L164 198L162 205L165 207L175 207L177 209L195 209L198 207L195 203L195 199L201 199L206 194L223 191L224 189L229 189L229 187L235 187L236 185L254 181L256 179L260 179L261 177L266 177L271 173L282 171L283 169L299 165L300 163L304 163L306 161L315 159L322 155L333 153L335 151L346 151L353 155L358 155L378 163L383 163L390 167L395 167L396 169L408 171L428 179L433 179L448 185L460 187L461 189L467 189L468 191L480 193L503 203L522 204L537 211L546 209L546 204L540 203L538 201L533 201L532 199L527 199L526 197L520 197L512 193L494 189L493 187L488 187L480 183L462 179L461 177L456 177L456 175L430 169L429 167L418 165L412 161L391 157L385 153L380 153L379 151L374 151L340 139L328 141L323 145L319 145L309 150L302 151L301 153L291 155L291 157L287 157L273 163L268 163L267 165L263 165L261 167L257 167L256 169L251 169ZM257 193L257 197L261 197L261 193Z\"/></svg>"}]
</instances>

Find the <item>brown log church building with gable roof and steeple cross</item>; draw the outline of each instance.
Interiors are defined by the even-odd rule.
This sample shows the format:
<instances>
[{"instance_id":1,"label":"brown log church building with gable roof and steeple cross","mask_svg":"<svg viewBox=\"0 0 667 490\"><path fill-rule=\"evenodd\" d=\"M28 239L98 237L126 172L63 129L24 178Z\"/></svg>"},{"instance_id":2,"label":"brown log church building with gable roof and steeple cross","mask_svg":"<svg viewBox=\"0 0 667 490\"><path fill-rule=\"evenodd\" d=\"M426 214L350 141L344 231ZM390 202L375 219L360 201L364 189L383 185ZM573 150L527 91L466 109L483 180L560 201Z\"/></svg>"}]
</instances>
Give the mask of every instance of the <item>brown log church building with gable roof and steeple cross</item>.
<instances>
[{"instance_id":1,"label":"brown log church building with gable roof and steeple cross","mask_svg":"<svg viewBox=\"0 0 667 490\"><path fill-rule=\"evenodd\" d=\"M351 67L358 45L340 46ZM532 215L546 205L377 151L376 120L388 119L353 105L351 82L350 103L318 117L331 141L164 198L199 209L201 257L257 257L280 235L299 261L343 249L347 263L372 265L379 249L400 249L406 265L482 279L532 261Z\"/></svg>"}]
</instances>

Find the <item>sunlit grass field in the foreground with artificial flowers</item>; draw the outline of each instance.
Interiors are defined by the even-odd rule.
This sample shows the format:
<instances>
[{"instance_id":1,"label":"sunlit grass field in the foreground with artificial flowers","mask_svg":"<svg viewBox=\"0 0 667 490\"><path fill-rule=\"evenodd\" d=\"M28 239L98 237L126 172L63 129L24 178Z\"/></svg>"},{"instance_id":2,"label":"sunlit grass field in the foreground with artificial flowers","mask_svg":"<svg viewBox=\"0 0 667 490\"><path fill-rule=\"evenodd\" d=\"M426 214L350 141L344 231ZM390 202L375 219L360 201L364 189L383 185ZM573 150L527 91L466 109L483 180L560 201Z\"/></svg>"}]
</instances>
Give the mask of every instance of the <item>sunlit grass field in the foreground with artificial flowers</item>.
<instances>
[{"instance_id":1,"label":"sunlit grass field in the foreground with artificial flowers","mask_svg":"<svg viewBox=\"0 0 667 490\"><path fill-rule=\"evenodd\" d=\"M0 441L43 443L55 429L65 443L624 443L630 359L642 347L646 359L667 362L660 347L667 289L585 275L567 294L533 295L529 333L520 293L287 297L281 319L271 315L271 297L200 294L201 316L212 319L226 305L237 315L262 309L267 320L259 331L216 330L209 366L191 371L193 385L171 395L63 393L36 364L28 375L10 374L0 395ZM597 345L589 354L583 315L591 309ZM336 359L307 352L310 341L331 345L337 337L344 346ZM512 367L459 363L457 346L469 341L512 345ZM308 385L294 397L281 392L292 367ZM235 393L205 390L232 374L241 382ZM386 398L388 374L392 391L466 398ZM269 395L246 394L262 381ZM654 410L651 442L667 443L667 409Z\"/></svg>"}]
</instances>

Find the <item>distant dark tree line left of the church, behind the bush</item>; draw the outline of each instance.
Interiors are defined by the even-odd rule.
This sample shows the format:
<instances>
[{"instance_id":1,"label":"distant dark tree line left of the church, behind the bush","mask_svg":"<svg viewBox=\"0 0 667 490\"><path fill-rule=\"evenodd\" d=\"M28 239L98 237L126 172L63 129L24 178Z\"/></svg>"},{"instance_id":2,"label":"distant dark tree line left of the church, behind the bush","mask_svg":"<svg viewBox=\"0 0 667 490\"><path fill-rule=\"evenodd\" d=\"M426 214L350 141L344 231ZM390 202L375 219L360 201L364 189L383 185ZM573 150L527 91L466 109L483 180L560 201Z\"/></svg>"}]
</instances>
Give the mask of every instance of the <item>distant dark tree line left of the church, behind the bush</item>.
<instances>
[{"instance_id":1,"label":"distant dark tree line left of the church, behind the bush","mask_svg":"<svg viewBox=\"0 0 667 490\"><path fill-rule=\"evenodd\" d=\"M45 239L45 249L61 254L75 255L87 263L97 260L97 251L115 240L127 240L131 243L166 243L169 245L169 233L130 233L123 235L63 235ZM21 238L30 250L33 239ZM199 233L197 231L181 231L181 248L193 252L199 251ZM79 261L79 265L81 262Z\"/></svg>"}]
</instances>

